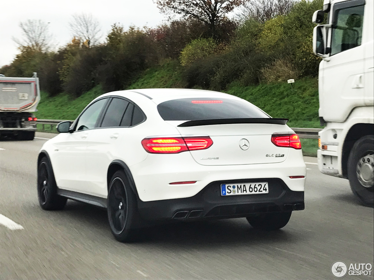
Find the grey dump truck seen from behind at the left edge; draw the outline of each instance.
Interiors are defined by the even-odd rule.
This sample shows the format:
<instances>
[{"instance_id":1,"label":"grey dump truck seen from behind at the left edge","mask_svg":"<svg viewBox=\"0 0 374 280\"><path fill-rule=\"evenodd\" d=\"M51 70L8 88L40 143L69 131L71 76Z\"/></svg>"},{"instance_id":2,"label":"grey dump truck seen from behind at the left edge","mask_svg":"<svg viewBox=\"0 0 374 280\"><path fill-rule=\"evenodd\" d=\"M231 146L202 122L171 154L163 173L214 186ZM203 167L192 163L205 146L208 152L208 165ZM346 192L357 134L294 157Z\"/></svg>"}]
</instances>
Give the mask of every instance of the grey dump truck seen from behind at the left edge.
<instances>
[{"instance_id":1,"label":"grey dump truck seen from behind at the left edge","mask_svg":"<svg viewBox=\"0 0 374 280\"><path fill-rule=\"evenodd\" d=\"M0 75L0 136L33 140L36 131L34 112L40 100L39 78L14 78Z\"/></svg>"}]
</instances>

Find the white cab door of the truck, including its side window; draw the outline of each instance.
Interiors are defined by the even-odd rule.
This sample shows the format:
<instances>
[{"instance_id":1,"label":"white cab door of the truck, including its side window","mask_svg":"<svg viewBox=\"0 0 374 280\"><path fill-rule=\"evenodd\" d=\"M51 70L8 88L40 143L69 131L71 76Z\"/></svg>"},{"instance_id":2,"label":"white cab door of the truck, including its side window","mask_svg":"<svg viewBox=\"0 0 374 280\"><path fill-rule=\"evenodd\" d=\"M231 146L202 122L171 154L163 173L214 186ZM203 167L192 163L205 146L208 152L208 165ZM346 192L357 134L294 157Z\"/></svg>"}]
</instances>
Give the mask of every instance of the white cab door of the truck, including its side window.
<instances>
[{"instance_id":1,"label":"white cab door of the truck, including its side window","mask_svg":"<svg viewBox=\"0 0 374 280\"><path fill-rule=\"evenodd\" d=\"M364 0L332 6L329 61L322 63L324 82L320 116L325 121L343 122L352 108L364 105L364 46L362 29ZM331 104L335 106L331 108Z\"/></svg>"}]
</instances>

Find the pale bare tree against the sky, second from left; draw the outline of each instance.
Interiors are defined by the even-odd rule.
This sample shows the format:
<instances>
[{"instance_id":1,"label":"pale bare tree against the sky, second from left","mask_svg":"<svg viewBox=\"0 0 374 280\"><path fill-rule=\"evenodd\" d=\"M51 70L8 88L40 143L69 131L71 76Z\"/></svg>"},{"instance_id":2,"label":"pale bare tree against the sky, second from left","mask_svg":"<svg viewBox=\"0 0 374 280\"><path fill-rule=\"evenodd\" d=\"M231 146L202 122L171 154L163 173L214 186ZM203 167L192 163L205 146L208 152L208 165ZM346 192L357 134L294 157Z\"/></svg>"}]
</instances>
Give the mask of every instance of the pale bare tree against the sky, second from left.
<instances>
[{"instance_id":1,"label":"pale bare tree against the sky, second from left","mask_svg":"<svg viewBox=\"0 0 374 280\"><path fill-rule=\"evenodd\" d=\"M101 38L99 22L92 18L91 14L82 13L72 17L69 27L73 36L79 37L88 46L94 46L99 43Z\"/></svg>"}]
</instances>

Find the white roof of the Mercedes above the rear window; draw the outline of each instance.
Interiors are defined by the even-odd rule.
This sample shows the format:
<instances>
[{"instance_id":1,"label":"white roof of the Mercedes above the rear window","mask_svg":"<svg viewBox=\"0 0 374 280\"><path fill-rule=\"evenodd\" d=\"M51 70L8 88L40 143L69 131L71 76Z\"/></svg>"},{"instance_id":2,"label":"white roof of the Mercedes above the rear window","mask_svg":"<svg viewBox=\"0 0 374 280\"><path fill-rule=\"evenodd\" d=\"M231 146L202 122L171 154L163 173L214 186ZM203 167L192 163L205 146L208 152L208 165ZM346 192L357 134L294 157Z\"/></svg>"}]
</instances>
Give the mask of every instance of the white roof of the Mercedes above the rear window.
<instances>
[{"instance_id":1,"label":"white roof of the Mercedes above the rear window","mask_svg":"<svg viewBox=\"0 0 374 280\"><path fill-rule=\"evenodd\" d=\"M197 90L197 89L190 89L190 88L143 88L143 89L126 90L126 91L139 93L143 96L148 97L149 99L169 99L169 98L174 99L173 97L178 97L178 96L196 96L196 95L201 95L202 97L212 95L212 96L216 96L216 97L219 96L223 98L234 98L234 99L238 98L231 94L222 93L218 91Z\"/></svg>"}]
</instances>

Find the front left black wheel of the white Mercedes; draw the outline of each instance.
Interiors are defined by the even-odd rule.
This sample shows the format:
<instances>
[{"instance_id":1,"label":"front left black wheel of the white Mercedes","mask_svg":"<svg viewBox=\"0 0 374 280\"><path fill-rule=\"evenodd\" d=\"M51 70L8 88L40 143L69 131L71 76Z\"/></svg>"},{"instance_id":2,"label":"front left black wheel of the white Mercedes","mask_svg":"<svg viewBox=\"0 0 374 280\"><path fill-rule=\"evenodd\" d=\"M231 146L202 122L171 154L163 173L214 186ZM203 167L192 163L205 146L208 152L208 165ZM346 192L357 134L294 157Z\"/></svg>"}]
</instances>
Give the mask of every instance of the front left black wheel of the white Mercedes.
<instances>
[{"instance_id":1,"label":"front left black wheel of the white Mercedes","mask_svg":"<svg viewBox=\"0 0 374 280\"><path fill-rule=\"evenodd\" d=\"M67 198L57 194L57 185L52 165L43 157L38 166L37 192L39 205L44 210L62 210Z\"/></svg>"}]
</instances>

